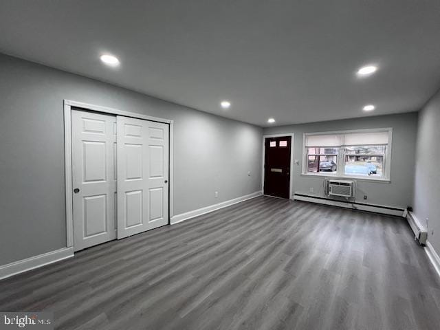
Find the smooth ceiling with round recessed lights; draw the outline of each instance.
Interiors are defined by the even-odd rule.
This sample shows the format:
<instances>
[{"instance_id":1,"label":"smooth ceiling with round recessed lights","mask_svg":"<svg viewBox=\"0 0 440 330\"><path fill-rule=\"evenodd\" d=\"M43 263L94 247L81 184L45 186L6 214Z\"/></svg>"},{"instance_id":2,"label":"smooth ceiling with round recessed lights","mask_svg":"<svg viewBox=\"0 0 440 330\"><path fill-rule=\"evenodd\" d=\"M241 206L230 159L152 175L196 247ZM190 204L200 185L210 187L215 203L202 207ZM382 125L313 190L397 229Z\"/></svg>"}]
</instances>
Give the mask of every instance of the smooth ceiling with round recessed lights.
<instances>
[{"instance_id":1,"label":"smooth ceiling with round recessed lights","mask_svg":"<svg viewBox=\"0 0 440 330\"><path fill-rule=\"evenodd\" d=\"M0 32L0 52L260 126L417 111L440 87L439 0L2 0Z\"/></svg>"}]
</instances>

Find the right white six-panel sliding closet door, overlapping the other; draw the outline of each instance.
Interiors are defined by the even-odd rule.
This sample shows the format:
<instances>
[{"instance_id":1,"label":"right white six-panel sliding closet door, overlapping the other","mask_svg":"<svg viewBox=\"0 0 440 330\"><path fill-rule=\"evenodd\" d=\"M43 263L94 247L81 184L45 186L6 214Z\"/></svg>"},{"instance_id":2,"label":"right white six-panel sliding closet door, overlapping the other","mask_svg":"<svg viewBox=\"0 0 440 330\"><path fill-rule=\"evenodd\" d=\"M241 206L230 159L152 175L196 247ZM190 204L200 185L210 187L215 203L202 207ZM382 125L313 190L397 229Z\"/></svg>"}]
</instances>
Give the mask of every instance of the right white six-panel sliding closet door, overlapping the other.
<instances>
[{"instance_id":1,"label":"right white six-panel sliding closet door, overlapping the other","mask_svg":"<svg viewBox=\"0 0 440 330\"><path fill-rule=\"evenodd\" d=\"M168 224L168 124L117 116L118 239Z\"/></svg>"}]
</instances>

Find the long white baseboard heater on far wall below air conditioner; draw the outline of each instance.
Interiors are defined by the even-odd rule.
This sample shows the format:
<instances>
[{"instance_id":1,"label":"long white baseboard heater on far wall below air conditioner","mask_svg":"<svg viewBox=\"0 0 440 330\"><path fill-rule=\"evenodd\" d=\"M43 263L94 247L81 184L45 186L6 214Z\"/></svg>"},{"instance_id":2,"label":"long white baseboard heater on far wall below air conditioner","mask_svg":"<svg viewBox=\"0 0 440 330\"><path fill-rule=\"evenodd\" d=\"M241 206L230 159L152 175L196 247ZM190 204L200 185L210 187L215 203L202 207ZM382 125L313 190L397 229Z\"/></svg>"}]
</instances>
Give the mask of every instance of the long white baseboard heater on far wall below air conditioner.
<instances>
[{"instance_id":1,"label":"long white baseboard heater on far wall below air conditioner","mask_svg":"<svg viewBox=\"0 0 440 330\"><path fill-rule=\"evenodd\" d=\"M320 203L324 205L330 206L338 206L340 208L349 208L351 210L361 210L368 212L375 212L387 215L395 215L397 217L403 217L405 210L402 208L391 208L388 206L379 206L379 205L367 205L364 203L346 203L344 201L336 201L332 199L325 199L324 197L314 197L314 196L306 196L306 195L294 195L294 200L296 201L310 201L312 203Z\"/></svg>"}]
</instances>

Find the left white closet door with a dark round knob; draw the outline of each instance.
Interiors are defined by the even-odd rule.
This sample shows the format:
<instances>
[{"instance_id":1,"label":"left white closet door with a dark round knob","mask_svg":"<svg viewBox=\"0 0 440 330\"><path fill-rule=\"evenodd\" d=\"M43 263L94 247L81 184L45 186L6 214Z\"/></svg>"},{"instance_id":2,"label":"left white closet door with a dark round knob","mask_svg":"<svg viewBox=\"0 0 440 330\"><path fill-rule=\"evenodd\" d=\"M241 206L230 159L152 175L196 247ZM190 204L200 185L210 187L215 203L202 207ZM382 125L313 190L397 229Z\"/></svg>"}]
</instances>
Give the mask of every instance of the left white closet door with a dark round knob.
<instances>
[{"instance_id":1,"label":"left white closet door with a dark round knob","mask_svg":"<svg viewBox=\"0 0 440 330\"><path fill-rule=\"evenodd\" d=\"M74 250L116 238L116 116L72 110Z\"/></svg>"}]
</instances>

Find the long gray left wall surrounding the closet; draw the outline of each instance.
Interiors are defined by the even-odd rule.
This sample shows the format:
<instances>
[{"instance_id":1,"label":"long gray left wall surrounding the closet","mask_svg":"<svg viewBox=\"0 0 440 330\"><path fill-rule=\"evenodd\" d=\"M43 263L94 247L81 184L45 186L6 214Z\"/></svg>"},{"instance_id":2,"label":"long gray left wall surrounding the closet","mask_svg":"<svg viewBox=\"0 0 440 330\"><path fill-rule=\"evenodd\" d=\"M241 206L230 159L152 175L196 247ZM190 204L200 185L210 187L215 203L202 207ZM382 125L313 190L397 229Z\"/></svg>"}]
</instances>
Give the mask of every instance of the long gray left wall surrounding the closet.
<instances>
[{"instance_id":1,"label":"long gray left wall surrounding the closet","mask_svg":"<svg viewBox=\"0 0 440 330\"><path fill-rule=\"evenodd\" d=\"M261 189L261 128L0 54L0 265L66 245L63 99L175 121L175 214Z\"/></svg>"}]
</instances>

